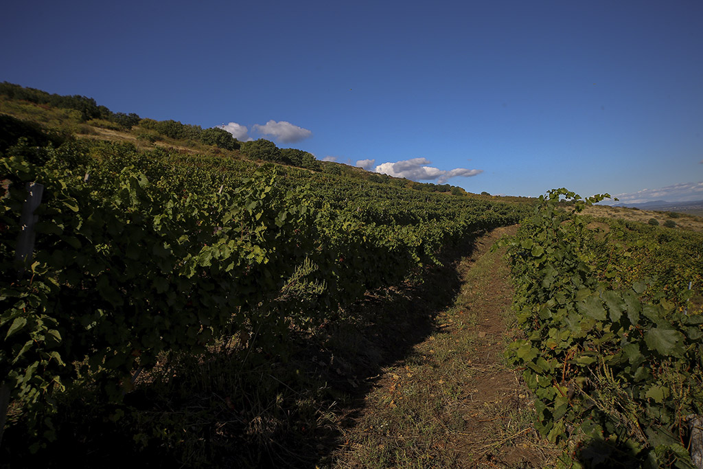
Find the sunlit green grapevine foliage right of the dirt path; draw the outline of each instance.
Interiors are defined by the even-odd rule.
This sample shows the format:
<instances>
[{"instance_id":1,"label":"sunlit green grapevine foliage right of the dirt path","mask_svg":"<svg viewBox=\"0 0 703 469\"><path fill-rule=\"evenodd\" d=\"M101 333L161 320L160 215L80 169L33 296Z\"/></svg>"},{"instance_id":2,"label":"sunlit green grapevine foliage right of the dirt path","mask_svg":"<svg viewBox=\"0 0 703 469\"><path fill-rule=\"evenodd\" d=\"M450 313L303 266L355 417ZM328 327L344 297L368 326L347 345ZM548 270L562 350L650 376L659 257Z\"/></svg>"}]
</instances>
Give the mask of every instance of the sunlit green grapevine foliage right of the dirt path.
<instances>
[{"instance_id":1,"label":"sunlit green grapevine foliage right of the dirt path","mask_svg":"<svg viewBox=\"0 0 703 469\"><path fill-rule=\"evenodd\" d=\"M579 213L606 197L549 191L507 242L524 338L506 354L536 394L538 430L576 442L586 465L692 467L686 423L703 412L703 316L651 279L622 288L605 275L612 266Z\"/></svg>"}]
</instances>

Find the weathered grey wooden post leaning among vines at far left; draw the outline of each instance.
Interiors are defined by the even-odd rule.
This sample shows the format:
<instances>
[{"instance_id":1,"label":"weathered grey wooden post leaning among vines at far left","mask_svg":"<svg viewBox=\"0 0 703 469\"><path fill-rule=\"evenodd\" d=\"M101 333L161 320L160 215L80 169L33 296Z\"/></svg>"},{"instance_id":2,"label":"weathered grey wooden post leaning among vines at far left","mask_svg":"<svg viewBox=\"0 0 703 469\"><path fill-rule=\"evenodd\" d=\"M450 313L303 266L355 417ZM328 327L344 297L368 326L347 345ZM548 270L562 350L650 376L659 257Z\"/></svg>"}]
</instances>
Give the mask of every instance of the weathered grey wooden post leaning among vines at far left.
<instances>
[{"instance_id":1,"label":"weathered grey wooden post leaning among vines at far left","mask_svg":"<svg viewBox=\"0 0 703 469\"><path fill-rule=\"evenodd\" d=\"M35 182L27 183L27 198L22 205L22 215L20 216L20 236L17 240L17 251L15 251L15 260L21 262L17 276L21 278L27 269L27 265L32 263L32 252L34 252L34 224L39 219L38 215L34 214L39 204L41 204L41 195L44 193L44 186ZM10 387L3 381L0 385L0 444L5 432L5 423L7 421L7 408L10 404Z\"/></svg>"}]
</instances>

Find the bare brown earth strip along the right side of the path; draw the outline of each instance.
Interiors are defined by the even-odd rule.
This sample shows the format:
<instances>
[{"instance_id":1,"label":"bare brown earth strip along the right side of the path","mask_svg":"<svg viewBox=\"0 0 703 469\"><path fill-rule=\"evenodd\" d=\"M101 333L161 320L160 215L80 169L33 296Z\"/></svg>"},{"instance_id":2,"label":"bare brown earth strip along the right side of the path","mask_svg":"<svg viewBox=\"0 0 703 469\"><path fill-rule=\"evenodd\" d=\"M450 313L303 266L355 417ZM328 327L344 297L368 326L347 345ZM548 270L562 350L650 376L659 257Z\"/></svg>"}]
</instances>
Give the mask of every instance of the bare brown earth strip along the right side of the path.
<instances>
[{"instance_id":1,"label":"bare brown earth strip along the right side of the path","mask_svg":"<svg viewBox=\"0 0 703 469\"><path fill-rule=\"evenodd\" d=\"M459 451L461 465L475 467L543 467L546 453L534 427L527 420L532 405L520 375L506 366L503 353L515 331L506 324L512 304L508 266L502 256L491 256L491 246L505 235L514 235L517 227L500 228L480 239L475 255L460 268L470 290L463 301L475 311L475 353L467 360L472 384L465 390L458 406L466 428L451 435L449 448ZM491 262L486 262L491 256ZM482 264L482 265L477 265ZM479 268L482 276L472 276ZM468 287L468 288L467 288ZM522 421L520 414L522 413Z\"/></svg>"}]
</instances>

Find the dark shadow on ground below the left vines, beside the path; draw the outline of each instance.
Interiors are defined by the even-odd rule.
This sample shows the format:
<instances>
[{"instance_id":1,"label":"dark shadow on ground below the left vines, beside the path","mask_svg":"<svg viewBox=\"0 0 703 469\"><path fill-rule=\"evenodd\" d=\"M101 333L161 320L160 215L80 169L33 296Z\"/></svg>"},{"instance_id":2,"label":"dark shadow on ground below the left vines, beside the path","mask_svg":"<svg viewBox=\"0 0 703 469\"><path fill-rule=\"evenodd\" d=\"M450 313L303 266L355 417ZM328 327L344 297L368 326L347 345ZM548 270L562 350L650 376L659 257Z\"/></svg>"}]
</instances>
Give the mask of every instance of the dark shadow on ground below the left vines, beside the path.
<instances>
[{"instance_id":1,"label":"dark shadow on ground below the left vines, beside the path","mask_svg":"<svg viewBox=\"0 0 703 469\"><path fill-rule=\"evenodd\" d=\"M56 440L32 454L22 423L6 431L0 467L315 468L333 464L383 368L434 331L461 287L456 263L475 238L415 281L368 294L287 352L223 348L170 356L141 376L124 406L59 403ZM80 455L80 458L77 458Z\"/></svg>"}]
</instances>

